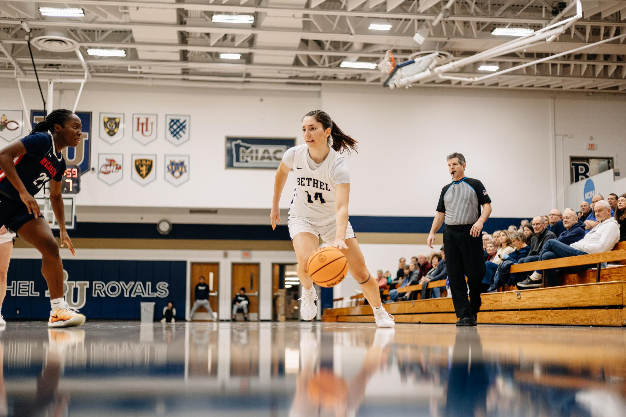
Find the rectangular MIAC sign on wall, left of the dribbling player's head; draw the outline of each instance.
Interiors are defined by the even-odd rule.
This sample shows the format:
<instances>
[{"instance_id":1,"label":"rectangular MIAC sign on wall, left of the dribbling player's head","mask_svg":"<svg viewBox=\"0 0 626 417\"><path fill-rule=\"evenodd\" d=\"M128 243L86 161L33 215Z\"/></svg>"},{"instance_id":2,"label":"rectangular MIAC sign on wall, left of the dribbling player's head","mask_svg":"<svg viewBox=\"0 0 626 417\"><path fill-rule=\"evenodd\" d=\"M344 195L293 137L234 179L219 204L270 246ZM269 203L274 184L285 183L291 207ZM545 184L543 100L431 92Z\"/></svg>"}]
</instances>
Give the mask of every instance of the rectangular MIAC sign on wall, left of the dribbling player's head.
<instances>
[{"instance_id":1,"label":"rectangular MIAC sign on wall, left of the dribbling player's head","mask_svg":"<svg viewBox=\"0 0 626 417\"><path fill-rule=\"evenodd\" d=\"M273 168L295 146L294 138L226 138L226 168Z\"/></svg>"}]
</instances>

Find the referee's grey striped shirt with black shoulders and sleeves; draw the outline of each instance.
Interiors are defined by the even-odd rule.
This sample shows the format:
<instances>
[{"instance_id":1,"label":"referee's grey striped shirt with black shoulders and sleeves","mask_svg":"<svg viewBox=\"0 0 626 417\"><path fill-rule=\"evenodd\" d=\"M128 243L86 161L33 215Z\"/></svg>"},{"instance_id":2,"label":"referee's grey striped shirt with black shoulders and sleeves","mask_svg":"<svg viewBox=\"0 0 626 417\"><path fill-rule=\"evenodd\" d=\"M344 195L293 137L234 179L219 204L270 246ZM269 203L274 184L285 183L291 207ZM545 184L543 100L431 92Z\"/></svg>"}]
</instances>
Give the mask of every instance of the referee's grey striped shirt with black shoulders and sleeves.
<instances>
[{"instance_id":1,"label":"referee's grey striped shirt with black shoulders and sleeves","mask_svg":"<svg viewBox=\"0 0 626 417\"><path fill-rule=\"evenodd\" d=\"M437 211L446 213L449 226L474 224L480 218L481 206L491 203L489 194L478 179L465 177L444 186Z\"/></svg>"}]
</instances>

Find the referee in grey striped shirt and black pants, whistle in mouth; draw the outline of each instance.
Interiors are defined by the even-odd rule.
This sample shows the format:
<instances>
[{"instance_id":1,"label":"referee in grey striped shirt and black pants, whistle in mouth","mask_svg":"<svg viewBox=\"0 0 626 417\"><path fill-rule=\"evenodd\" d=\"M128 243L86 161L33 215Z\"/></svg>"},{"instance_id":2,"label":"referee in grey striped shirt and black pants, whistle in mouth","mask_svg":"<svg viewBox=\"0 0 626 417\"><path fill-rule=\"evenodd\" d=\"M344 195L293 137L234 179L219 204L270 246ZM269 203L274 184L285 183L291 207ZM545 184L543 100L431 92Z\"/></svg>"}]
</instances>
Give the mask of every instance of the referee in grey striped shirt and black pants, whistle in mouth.
<instances>
[{"instance_id":1,"label":"referee in grey striped shirt and black pants, whistle in mouth","mask_svg":"<svg viewBox=\"0 0 626 417\"><path fill-rule=\"evenodd\" d=\"M491 199L483 183L465 176L463 154L455 152L448 155L446 160L452 183L441 190L437 214L426 243L429 248L433 248L434 234L445 220L443 246L446 247L446 267L454 312L459 319L456 325L476 326L476 315L481 304L480 284L485 276L481 231L491 214Z\"/></svg>"}]
</instances>

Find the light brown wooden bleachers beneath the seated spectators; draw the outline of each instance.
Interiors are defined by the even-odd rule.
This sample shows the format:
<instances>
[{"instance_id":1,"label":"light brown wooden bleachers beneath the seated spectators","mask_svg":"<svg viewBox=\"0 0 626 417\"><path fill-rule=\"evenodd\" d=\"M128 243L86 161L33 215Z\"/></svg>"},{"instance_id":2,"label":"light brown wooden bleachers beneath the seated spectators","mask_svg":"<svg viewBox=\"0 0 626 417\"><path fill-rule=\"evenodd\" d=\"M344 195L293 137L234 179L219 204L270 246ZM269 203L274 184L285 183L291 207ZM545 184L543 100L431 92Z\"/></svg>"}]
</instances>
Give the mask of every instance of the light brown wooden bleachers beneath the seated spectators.
<instances>
[{"instance_id":1,"label":"light brown wooden bleachers beneath the seated spectators","mask_svg":"<svg viewBox=\"0 0 626 417\"><path fill-rule=\"evenodd\" d=\"M515 265L511 272L622 261L626 261L626 242L618 243L610 252ZM478 323L626 326L626 266L562 274L559 279L562 286L482 294ZM441 284L429 283L429 288L435 286ZM419 289L421 285L406 286L399 292ZM385 308L396 317L396 323L456 322L450 298L399 301ZM357 305L326 309L322 320L373 322L374 316L370 306Z\"/></svg>"}]
</instances>

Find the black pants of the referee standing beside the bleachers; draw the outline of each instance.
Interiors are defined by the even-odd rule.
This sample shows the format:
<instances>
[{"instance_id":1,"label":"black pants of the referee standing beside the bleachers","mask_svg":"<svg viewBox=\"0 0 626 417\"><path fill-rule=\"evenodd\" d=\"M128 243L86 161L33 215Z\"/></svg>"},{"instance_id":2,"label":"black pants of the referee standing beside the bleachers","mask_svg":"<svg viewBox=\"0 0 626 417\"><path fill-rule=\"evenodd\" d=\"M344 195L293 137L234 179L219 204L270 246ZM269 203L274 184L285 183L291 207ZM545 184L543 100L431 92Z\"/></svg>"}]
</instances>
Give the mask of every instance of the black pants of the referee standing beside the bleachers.
<instances>
[{"instance_id":1,"label":"black pants of the referee standing beside the bleachers","mask_svg":"<svg viewBox=\"0 0 626 417\"><path fill-rule=\"evenodd\" d=\"M481 304L481 283L485 276L483 238L482 236L472 237L469 234L471 226L471 224L458 226L446 224L446 229L443 231L443 246L446 248L446 268L452 292L452 303L458 318L476 317Z\"/></svg>"}]
</instances>

